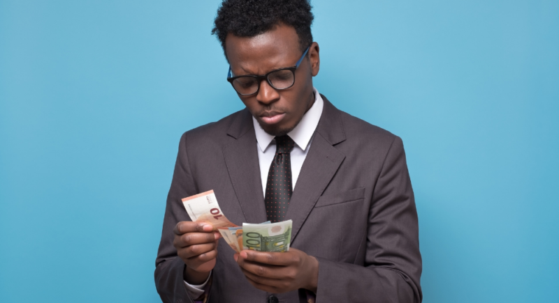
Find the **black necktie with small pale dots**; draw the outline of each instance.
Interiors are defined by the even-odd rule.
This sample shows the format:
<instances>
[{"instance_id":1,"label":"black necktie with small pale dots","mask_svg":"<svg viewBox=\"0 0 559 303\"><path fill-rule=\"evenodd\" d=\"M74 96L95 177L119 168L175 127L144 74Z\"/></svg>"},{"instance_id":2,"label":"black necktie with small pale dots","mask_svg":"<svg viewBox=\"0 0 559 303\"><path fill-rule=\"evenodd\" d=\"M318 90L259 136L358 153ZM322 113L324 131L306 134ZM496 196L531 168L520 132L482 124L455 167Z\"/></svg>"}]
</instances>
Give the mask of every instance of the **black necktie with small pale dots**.
<instances>
[{"instance_id":1,"label":"black necktie with small pale dots","mask_svg":"<svg viewBox=\"0 0 559 303\"><path fill-rule=\"evenodd\" d=\"M289 207L289 200L293 187L291 187L291 150L295 146L293 139L288 135L275 137L275 156L266 182L266 216L271 222L284 220Z\"/></svg>"}]
</instances>

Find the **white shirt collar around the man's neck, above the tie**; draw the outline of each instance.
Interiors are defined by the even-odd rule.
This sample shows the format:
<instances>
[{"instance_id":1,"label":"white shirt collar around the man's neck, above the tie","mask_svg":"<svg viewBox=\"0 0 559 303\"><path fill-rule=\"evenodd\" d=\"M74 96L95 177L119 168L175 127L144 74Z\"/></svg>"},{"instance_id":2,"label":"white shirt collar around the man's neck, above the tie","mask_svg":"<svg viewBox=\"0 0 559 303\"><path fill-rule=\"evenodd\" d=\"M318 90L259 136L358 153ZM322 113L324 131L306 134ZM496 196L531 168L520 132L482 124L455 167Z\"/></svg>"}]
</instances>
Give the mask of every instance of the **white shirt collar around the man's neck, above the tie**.
<instances>
[{"instance_id":1,"label":"white shirt collar around the man's neck, above the tie","mask_svg":"<svg viewBox=\"0 0 559 303\"><path fill-rule=\"evenodd\" d=\"M322 108L324 107L324 101L319 91L317 91L317 88L313 87L312 91L314 92L314 104L312 104L312 107L303 115L299 124L287 134L302 150L305 150L309 145L312 134L314 134L314 130L316 130L317 125L319 125ZM264 152L266 148L270 146L270 143L272 143L274 136L265 132L254 116L252 117L252 124L254 125L254 132L256 132L258 146L260 150Z\"/></svg>"}]
</instances>

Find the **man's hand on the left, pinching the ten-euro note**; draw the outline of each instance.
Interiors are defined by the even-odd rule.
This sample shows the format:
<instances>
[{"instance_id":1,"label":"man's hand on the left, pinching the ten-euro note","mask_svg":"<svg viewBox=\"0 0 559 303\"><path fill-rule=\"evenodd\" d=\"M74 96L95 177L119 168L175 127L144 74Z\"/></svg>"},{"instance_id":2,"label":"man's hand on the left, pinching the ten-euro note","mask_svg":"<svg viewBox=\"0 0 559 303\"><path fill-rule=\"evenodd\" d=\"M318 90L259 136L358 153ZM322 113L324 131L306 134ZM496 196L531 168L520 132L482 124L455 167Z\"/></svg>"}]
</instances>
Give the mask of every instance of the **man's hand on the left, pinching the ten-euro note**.
<instances>
[{"instance_id":1,"label":"man's hand on the left, pinching the ten-euro note","mask_svg":"<svg viewBox=\"0 0 559 303\"><path fill-rule=\"evenodd\" d=\"M182 221L173 229L173 246L187 266L183 279L191 284L204 283L215 267L219 232L212 232L212 224Z\"/></svg>"}]
</instances>

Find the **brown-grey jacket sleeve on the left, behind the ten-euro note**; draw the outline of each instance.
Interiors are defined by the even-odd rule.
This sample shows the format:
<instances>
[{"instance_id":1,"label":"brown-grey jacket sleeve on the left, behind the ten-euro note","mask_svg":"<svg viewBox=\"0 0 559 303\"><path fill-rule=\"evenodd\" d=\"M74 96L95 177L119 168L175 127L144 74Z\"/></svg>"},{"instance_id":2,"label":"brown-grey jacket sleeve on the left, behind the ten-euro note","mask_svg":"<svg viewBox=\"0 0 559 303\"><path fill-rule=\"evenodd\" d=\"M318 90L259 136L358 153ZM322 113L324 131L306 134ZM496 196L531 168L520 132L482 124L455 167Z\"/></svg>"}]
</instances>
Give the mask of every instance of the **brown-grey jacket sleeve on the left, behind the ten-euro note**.
<instances>
[{"instance_id":1,"label":"brown-grey jacket sleeve on the left, behind the ten-euro note","mask_svg":"<svg viewBox=\"0 0 559 303\"><path fill-rule=\"evenodd\" d=\"M175 172L171 181L161 232L161 242L155 260L155 287L163 302L194 302L184 286L182 273L184 262L177 256L173 246L173 228L180 221L190 221L181 199L196 194L187 155L187 136L182 135L179 143Z\"/></svg>"}]
</instances>

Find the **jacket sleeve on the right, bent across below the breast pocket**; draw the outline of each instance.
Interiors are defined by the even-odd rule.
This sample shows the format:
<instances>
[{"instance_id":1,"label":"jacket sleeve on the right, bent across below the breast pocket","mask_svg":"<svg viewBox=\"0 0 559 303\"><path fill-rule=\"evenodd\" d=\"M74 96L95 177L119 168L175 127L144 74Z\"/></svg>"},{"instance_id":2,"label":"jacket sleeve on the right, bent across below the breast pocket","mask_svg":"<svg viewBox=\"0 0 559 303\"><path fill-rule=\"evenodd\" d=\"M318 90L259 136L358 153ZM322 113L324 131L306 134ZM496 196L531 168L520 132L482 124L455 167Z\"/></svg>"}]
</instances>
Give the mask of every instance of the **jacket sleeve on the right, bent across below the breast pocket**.
<instances>
[{"instance_id":1,"label":"jacket sleeve on the right, bent across below the breast pocket","mask_svg":"<svg viewBox=\"0 0 559 303\"><path fill-rule=\"evenodd\" d=\"M319 302L422 300L421 254L412 183L395 137L373 189L364 265L319 259Z\"/></svg>"}]
</instances>

